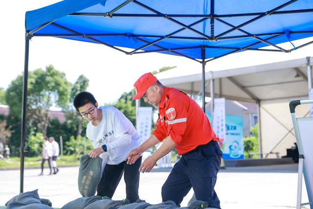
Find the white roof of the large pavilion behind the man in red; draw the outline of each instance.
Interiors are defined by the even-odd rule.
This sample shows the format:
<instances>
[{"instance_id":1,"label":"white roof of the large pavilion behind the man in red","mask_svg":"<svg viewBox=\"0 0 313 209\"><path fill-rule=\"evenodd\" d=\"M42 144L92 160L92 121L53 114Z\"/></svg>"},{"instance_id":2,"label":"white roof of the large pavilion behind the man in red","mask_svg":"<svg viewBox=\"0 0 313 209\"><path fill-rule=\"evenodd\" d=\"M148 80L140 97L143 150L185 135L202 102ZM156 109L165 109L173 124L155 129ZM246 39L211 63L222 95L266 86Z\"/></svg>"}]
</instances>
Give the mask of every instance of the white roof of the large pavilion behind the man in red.
<instances>
[{"instance_id":1,"label":"white roof of the large pavilion behind the man in red","mask_svg":"<svg viewBox=\"0 0 313 209\"><path fill-rule=\"evenodd\" d=\"M311 65L313 57L311 57ZM239 67L235 69L208 71L207 80L214 78L215 95L239 100L255 102L279 98L295 98L308 96L307 58L282 62ZM182 69L172 69L156 74L165 86L174 87L187 93L201 91L201 73L185 70L185 75L177 76ZM210 85L206 93L210 95ZM220 90L221 89L221 90Z\"/></svg>"}]
</instances>

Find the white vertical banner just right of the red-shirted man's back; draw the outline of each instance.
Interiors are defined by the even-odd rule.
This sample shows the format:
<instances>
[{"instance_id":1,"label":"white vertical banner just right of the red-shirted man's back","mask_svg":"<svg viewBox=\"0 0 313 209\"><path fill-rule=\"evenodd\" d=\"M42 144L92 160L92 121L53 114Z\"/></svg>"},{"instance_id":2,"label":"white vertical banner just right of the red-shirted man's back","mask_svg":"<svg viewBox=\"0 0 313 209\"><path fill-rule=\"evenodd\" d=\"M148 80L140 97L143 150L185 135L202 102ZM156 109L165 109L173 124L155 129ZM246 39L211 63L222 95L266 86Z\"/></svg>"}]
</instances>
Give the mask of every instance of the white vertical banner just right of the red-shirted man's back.
<instances>
[{"instance_id":1,"label":"white vertical banner just right of the red-shirted man's back","mask_svg":"<svg viewBox=\"0 0 313 209\"><path fill-rule=\"evenodd\" d=\"M222 147L226 137L225 98L214 99L213 130L216 137L220 138L220 146Z\"/></svg>"}]
</instances>

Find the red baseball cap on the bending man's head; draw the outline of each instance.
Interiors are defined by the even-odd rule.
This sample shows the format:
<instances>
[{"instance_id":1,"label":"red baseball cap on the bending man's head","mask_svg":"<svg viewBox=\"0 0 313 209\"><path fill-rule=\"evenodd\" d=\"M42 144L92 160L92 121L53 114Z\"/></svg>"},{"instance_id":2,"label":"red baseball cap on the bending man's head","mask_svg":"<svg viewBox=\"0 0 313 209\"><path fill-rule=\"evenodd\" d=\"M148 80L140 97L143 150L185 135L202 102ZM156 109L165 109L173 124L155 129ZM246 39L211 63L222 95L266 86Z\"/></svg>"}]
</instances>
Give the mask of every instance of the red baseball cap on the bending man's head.
<instances>
[{"instance_id":1,"label":"red baseball cap on the bending man's head","mask_svg":"<svg viewBox=\"0 0 313 209\"><path fill-rule=\"evenodd\" d=\"M151 72L145 73L138 78L138 80L134 83L134 88L136 95L134 95L134 99L140 99L143 94L146 93L149 87L151 87L154 83L156 83L157 79Z\"/></svg>"}]
</instances>

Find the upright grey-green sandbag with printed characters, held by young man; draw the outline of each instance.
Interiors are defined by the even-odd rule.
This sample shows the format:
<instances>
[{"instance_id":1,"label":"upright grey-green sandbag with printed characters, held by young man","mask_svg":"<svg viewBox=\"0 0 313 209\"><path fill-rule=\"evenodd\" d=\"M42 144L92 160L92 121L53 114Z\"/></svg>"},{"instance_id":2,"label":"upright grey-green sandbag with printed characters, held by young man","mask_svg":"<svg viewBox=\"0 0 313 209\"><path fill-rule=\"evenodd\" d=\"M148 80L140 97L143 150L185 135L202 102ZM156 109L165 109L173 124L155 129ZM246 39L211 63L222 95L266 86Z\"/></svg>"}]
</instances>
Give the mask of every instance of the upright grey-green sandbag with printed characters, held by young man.
<instances>
[{"instance_id":1,"label":"upright grey-green sandbag with printed characters, held by young man","mask_svg":"<svg viewBox=\"0 0 313 209\"><path fill-rule=\"evenodd\" d=\"M80 158L78 173L78 189L83 197L90 197L96 193L97 186L101 180L102 159L90 158L83 155Z\"/></svg>"}]
</instances>

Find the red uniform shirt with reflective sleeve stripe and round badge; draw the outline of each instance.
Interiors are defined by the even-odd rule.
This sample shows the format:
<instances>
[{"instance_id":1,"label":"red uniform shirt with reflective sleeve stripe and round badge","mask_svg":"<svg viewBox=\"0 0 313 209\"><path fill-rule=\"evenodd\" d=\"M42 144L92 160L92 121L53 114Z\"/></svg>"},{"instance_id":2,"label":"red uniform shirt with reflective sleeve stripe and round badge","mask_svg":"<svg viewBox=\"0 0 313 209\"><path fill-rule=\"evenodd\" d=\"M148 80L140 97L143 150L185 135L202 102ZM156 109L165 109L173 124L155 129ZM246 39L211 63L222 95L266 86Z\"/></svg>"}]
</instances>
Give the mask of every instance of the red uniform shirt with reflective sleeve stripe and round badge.
<instances>
[{"instance_id":1,"label":"red uniform shirt with reflective sleeve stripe and round badge","mask_svg":"<svg viewBox=\"0 0 313 209\"><path fill-rule=\"evenodd\" d=\"M160 141L171 136L177 143L179 155L186 154L212 139L218 140L201 107L177 89L164 88L158 111L159 119L153 135Z\"/></svg>"}]
</instances>

